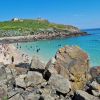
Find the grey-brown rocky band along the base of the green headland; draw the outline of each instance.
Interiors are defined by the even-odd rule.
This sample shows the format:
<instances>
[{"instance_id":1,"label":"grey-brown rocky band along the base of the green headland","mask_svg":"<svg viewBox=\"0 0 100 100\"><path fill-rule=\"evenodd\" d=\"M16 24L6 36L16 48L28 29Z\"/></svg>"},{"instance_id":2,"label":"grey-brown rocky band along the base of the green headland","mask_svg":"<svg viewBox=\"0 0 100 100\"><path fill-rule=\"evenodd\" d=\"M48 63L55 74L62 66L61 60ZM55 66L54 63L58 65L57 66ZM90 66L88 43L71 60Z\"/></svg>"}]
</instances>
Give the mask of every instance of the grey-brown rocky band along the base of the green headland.
<instances>
[{"instance_id":1,"label":"grey-brown rocky band along the base of the green headland","mask_svg":"<svg viewBox=\"0 0 100 100\"><path fill-rule=\"evenodd\" d=\"M29 42L29 41L38 41L38 40L51 40L51 39L57 39L57 38L69 38L69 37L78 37L78 36L84 36L87 35L86 32L80 32L80 31L76 31L76 32L64 32L64 31L51 31L51 32L46 32L46 31L38 31L38 32L30 32L30 31L26 31L26 32L20 32L15 31L15 30L9 30L9 31L3 31L1 32L1 34L3 34L3 36L0 38L0 42L2 43L15 43L15 42ZM4 34L6 33L6 35L4 36ZM14 36L11 35L14 34ZM23 35L22 34L28 34L28 35ZM21 34L20 36L17 36L18 34ZM30 35L29 35L30 34ZM32 35L31 35L32 34ZM33 35L34 34L34 35Z\"/></svg>"}]
</instances>

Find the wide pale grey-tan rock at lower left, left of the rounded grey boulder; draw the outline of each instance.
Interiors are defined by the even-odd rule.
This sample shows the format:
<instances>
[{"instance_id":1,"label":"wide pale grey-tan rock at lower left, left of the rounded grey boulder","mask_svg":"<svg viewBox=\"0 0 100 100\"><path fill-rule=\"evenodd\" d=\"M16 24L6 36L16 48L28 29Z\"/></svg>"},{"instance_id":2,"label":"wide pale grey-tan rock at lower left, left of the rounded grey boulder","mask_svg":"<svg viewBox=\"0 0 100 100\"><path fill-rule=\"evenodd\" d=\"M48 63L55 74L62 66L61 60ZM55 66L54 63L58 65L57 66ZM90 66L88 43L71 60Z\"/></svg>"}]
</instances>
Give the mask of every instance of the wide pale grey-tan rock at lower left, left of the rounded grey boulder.
<instances>
[{"instance_id":1,"label":"wide pale grey-tan rock at lower left, left of the rounded grey boulder","mask_svg":"<svg viewBox=\"0 0 100 100\"><path fill-rule=\"evenodd\" d=\"M26 88L26 87L34 87L39 84L45 82L42 77L42 74L38 72L28 71L27 74L19 75L16 79L16 85Z\"/></svg>"}]
</instances>

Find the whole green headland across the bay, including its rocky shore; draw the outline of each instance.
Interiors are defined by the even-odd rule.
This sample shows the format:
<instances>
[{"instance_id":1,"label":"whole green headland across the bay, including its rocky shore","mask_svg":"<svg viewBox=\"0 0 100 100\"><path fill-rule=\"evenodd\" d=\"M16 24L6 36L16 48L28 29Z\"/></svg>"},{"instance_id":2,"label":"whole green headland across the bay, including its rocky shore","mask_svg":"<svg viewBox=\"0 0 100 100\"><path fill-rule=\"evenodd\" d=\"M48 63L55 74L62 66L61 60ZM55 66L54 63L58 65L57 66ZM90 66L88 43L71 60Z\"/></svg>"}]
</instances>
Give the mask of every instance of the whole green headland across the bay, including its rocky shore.
<instances>
[{"instance_id":1,"label":"whole green headland across the bay, including its rocky shore","mask_svg":"<svg viewBox=\"0 0 100 100\"><path fill-rule=\"evenodd\" d=\"M5 41L7 39L5 37L15 36L25 36L26 40L40 40L80 36L85 34L86 33L81 32L77 27L50 23L48 20L41 18L34 20L14 18L11 21L0 22L0 37ZM27 38L27 36L30 37ZM20 41L22 41L24 37L19 38ZM25 41L25 39L23 41ZM12 39L12 41L14 40Z\"/></svg>"}]
</instances>

